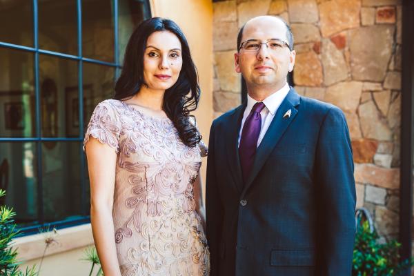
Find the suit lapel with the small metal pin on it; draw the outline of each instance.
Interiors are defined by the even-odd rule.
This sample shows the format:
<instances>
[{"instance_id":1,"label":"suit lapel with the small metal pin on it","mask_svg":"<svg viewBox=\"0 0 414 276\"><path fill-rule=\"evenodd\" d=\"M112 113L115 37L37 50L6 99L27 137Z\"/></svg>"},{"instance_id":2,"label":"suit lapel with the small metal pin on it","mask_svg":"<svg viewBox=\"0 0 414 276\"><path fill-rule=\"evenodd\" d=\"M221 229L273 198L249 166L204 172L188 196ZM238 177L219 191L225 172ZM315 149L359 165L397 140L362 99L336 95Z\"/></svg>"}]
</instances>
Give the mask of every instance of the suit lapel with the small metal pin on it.
<instances>
[{"instance_id":1,"label":"suit lapel with the small metal pin on it","mask_svg":"<svg viewBox=\"0 0 414 276\"><path fill-rule=\"evenodd\" d=\"M298 112L296 107L299 106L299 99L299 95L297 95L295 90L293 88L290 88L288 95L286 95L284 101L282 101L282 104L277 109L275 117L270 123L266 134L264 135L259 147L257 148L255 160L253 161L253 168L244 185L242 195L246 193L246 190L248 190L250 185L253 183L253 180L257 177L257 174L268 159L270 152L272 152L273 148L275 148L279 139L282 138L282 135L290 123L293 121L293 119L295 119L295 116ZM289 113L288 110L290 110L290 116L287 116L286 114L286 112Z\"/></svg>"}]
</instances>

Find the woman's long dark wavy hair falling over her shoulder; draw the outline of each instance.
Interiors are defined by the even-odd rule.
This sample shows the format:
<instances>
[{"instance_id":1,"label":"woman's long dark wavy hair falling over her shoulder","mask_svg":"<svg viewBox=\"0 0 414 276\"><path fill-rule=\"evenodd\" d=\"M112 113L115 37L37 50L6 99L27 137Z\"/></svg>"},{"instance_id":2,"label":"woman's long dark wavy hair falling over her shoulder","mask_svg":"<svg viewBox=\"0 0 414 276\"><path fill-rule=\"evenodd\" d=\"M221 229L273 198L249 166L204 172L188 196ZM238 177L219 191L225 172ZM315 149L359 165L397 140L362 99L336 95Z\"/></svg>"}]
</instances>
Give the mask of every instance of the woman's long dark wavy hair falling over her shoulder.
<instances>
[{"instance_id":1,"label":"woman's long dark wavy hair falling over her shoulder","mask_svg":"<svg viewBox=\"0 0 414 276\"><path fill-rule=\"evenodd\" d=\"M114 99L130 99L144 82L144 52L146 42L153 32L168 31L177 36L181 42L183 66L177 82L168 88L164 94L162 108L175 128L181 141L190 147L195 147L201 141L201 135L195 124L191 124L190 112L194 111L199 102L200 88L197 69L191 59L190 47L184 33L174 21L153 17L143 21L132 32L124 57L124 67L121 76L115 84Z\"/></svg>"}]
</instances>

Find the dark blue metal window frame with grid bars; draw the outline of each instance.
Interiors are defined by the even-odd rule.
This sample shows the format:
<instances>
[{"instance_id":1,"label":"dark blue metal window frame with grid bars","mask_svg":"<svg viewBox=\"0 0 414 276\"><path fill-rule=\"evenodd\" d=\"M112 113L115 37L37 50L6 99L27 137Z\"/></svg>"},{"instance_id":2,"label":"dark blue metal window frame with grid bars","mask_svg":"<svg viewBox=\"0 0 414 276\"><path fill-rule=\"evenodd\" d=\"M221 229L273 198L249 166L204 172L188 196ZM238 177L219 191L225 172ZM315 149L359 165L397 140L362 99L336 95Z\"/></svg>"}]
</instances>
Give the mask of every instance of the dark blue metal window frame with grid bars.
<instances>
[{"instance_id":1,"label":"dark blue metal window frame with grid bars","mask_svg":"<svg viewBox=\"0 0 414 276\"><path fill-rule=\"evenodd\" d=\"M2 142L22 142L30 141L36 144L37 156L37 221L38 224L34 226L21 227L19 230L22 231L23 235L31 235L39 233L39 228L67 228L71 226L77 226L80 224L87 224L90 222L90 215L88 215L88 208L86 206L86 155L82 150L82 141L84 135L83 126L83 108L79 108L79 137L75 138L46 138L41 137L41 103L40 103L40 86L39 86L39 56L50 55L52 57L61 57L63 59L70 59L78 61L78 91L79 91L79 106L83 106L83 63L95 63L103 66L109 66L115 68L115 79L117 79L121 72L121 61L119 60L119 12L118 3L119 0L112 0L113 5L113 21L114 21L114 62L100 61L99 59L90 59L83 57L82 53L82 1L77 0L77 55L67 55L61 52L53 52L49 50L43 50L39 48L39 10L38 0L32 0L32 12L33 12L33 47L21 46L13 43L6 43L0 41L0 48L11 48L14 50L21 50L25 52L32 52L34 54L34 93L35 93L35 124L36 133L35 137L30 138L12 138L12 137L0 137L0 143ZM150 3L149 0L138 0L137 3L144 4L144 18L151 17ZM77 141L79 143L79 162L81 167L81 216L77 219L66 219L63 221L53 221L45 223L44 212L43 212L43 185L42 185L42 155L41 145L44 141Z\"/></svg>"}]
</instances>

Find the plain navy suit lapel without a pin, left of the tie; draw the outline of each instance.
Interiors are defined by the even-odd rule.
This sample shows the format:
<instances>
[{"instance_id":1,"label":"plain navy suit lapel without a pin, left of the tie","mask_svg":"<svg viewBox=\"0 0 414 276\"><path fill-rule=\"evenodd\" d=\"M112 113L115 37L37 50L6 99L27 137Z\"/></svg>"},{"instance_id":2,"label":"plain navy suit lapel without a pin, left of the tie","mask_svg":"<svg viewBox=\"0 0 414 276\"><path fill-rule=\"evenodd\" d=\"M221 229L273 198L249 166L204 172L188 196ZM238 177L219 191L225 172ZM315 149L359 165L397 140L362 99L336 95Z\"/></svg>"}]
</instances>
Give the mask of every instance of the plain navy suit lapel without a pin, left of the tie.
<instances>
[{"instance_id":1,"label":"plain navy suit lapel without a pin, left of the tie","mask_svg":"<svg viewBox=\"0 0 414 276\"><path fill-rule=\"evenodd\" d=\"M243 178L242 178L242 166L240 166L239 159L239 147L237 139L239 138L240 125L242 124L244 109L246 108L246 103L242 104L235 109L232 117L229 118L228 132L226 135L226 150L228 165L230 167L230 172L233 175L233 180L236 186L236 189L239 193L242 193L243 189Z\"/></svg>"}]
</instances>

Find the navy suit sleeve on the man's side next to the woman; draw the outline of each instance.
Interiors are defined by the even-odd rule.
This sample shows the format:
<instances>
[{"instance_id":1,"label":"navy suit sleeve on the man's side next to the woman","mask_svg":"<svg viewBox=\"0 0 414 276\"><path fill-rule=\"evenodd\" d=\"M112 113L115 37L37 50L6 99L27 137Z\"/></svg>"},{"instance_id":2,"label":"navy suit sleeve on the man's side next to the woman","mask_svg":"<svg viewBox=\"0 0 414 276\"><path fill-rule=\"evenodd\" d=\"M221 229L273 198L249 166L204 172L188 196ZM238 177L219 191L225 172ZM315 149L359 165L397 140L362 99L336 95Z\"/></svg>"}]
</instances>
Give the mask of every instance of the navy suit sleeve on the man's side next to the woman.
<instances>
[{"instance_id":1,"label":"navy suit sleeve on the man's side next to the woman","mask_svg":"<svg viewBox=\"0 0 414 276\"><path fill-rule=\"evenodd\" d=\"M210 248L210 276L218 275L221 225L223 221L223 207L221 206L216 179L215 154L215 124L213 122L208 143L206 178L206 228Z\"/></svg>"}]
</instances>

